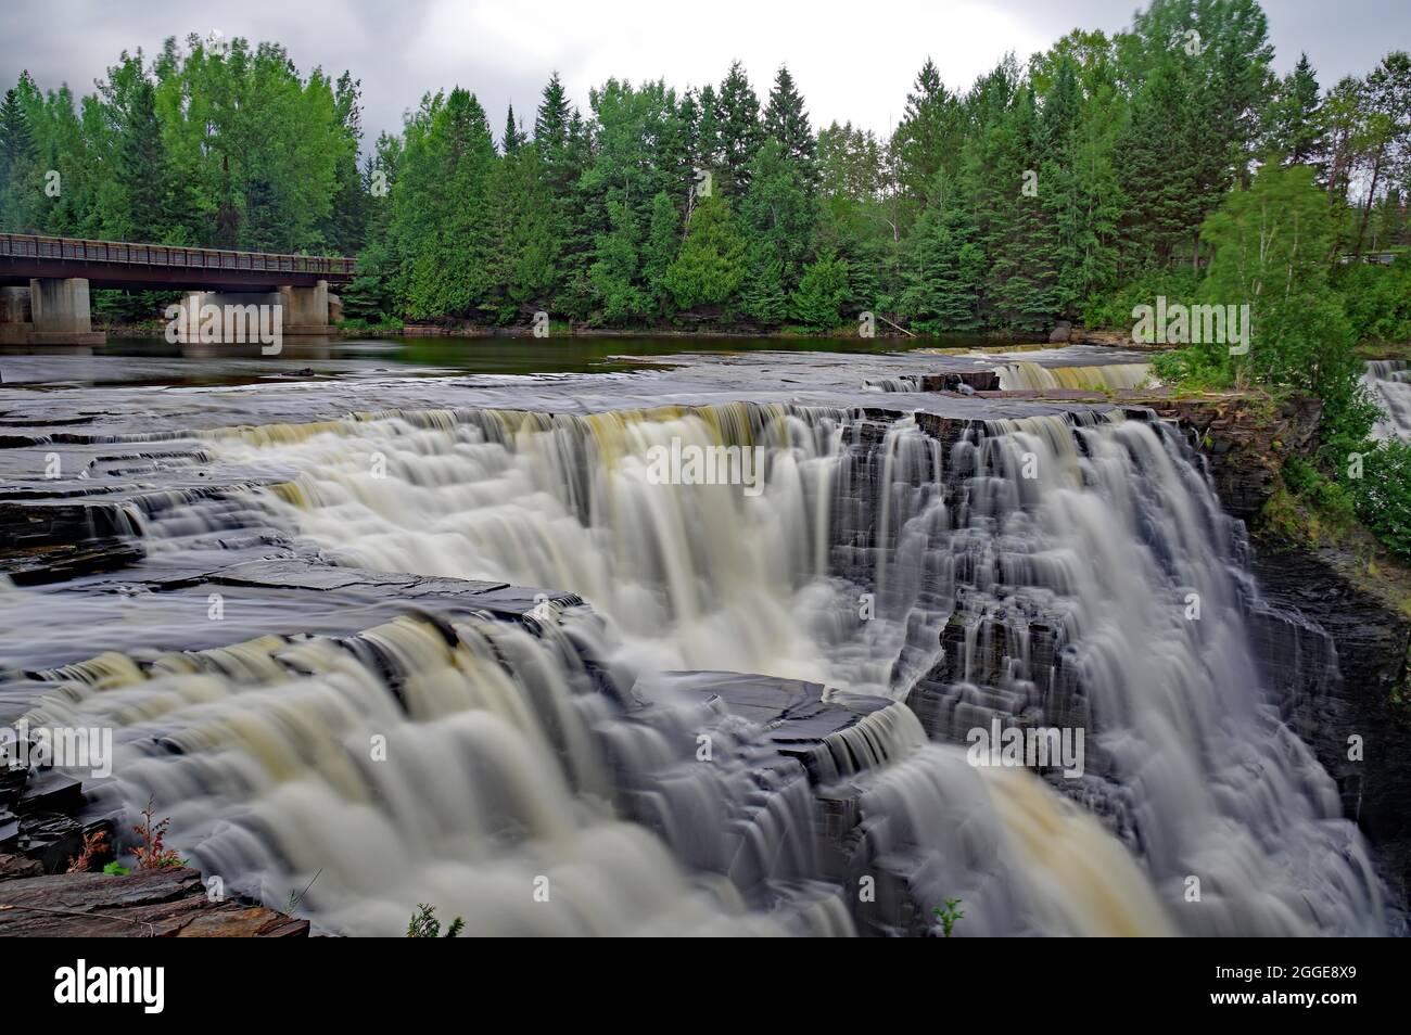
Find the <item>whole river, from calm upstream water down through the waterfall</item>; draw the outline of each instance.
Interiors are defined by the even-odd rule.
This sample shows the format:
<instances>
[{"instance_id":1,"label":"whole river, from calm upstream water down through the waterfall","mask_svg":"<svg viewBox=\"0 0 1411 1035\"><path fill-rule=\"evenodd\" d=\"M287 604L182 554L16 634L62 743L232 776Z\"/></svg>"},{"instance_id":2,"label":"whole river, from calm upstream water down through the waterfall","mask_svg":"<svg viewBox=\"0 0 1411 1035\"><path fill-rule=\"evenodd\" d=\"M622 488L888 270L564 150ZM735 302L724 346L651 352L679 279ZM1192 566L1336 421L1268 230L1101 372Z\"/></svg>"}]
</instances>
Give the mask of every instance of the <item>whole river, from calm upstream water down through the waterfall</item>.
<instances>
[{"instance_id":1,"label":"whole river, from calm upstream water down through the waterfall","mask_svg":"<svg viewBox=\"0 0 1411 1035\"><path fill-rule=\"evenodd\" d=\"M1387 932L1144 357L793 344L0 358L0 502L137 547L0 592L0 718L336 933Z\"/></svg>"}]
</instances>

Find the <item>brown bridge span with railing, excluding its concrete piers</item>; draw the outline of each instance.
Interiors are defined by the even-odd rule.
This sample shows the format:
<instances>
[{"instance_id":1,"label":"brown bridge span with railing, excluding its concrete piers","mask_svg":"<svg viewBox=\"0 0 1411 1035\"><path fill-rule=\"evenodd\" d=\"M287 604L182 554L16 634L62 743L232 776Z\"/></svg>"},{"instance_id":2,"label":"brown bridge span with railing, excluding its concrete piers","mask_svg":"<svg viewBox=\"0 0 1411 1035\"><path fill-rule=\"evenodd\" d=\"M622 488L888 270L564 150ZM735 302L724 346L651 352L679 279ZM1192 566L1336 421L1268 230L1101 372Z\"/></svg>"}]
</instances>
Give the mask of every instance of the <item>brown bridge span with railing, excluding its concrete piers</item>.
<instances>
[{"instance_id":1,"label":"brown bridge span with railing, excluding its concrete piers","mask_svg":"<svg viewBox=\"0 0 1411 1035\"><path fill-rule=\"evenodd\" d=\"M183 248L169 244L87 241L75 237L0 234L0 283L85 276L92 288L270 289L353 279L357 259L258 251Z\"/></svg>"}]
</instances>

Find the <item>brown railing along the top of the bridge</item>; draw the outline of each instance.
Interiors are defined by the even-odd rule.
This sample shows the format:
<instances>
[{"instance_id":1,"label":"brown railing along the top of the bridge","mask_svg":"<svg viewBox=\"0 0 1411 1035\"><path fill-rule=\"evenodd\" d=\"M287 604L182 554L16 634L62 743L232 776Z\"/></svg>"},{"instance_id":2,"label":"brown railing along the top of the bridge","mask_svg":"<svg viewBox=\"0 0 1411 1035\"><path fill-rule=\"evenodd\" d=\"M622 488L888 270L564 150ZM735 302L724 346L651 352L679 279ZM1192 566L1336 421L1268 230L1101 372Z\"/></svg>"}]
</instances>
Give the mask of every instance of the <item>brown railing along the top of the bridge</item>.
<instances>
[{"instance_id":1,"label":"brown railing along the top of the bridge","mask_svg":"<svg viewBox=\"0 0 1411 1035\"><path fill-rule=\"evenodd\" d=\"M78 237L0 234L0 258L41 258L76 262L123 262L145 267L189 269L248 269L278 274L323 274L353 276L357 259L340 255L277 255L262 251L183 248L169 244L87 241Z\"/></svg>"}]
</instances>

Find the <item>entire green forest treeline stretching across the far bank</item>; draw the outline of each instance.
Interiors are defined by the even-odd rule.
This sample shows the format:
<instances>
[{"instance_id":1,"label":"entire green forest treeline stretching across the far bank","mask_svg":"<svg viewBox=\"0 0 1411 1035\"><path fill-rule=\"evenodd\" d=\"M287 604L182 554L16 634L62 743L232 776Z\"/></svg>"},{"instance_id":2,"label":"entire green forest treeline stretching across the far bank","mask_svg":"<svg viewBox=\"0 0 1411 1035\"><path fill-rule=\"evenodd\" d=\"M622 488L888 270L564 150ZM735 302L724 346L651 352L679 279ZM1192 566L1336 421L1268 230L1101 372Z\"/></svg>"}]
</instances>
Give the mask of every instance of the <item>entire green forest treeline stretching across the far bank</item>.
<instances>
[{"instance_id":1,"label":"entire green forest treeline stretching across the far bank","mask_svg":"<svg viewBox=\"0 0 1411 1035\"><path fill-rule=\"evenodd\" d=\"M21 76L0 228L358 254L368 323L1120 326L1133 295L1204 283L1202 227L1261 168L1309 169L1325 265L1405 241L1411 61L1325 90L1271 59L1254 0L1154 0L969 89L928 61L889 137L816 133L787 68L756 90L735 63L682 92L610 79L587 111L555 76L498 131L474 93L426 94L360 164L349 73L189 37L82 99Z\"/></svg>"}]
</instances>

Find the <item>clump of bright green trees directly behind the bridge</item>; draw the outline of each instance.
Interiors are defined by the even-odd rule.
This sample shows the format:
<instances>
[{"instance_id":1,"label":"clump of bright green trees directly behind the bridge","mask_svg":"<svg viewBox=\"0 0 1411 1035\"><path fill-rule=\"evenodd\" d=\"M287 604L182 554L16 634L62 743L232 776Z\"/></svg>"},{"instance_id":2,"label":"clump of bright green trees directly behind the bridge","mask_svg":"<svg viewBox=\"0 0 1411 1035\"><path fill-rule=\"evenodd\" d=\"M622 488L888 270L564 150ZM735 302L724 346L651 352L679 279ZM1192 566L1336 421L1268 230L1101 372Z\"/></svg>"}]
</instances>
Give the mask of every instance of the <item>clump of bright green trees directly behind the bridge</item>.
<instances>
[{"instance_id":1,"label":"clump of bright green trees directly behind the bridge","mask_svg":"<svg viewBox=\"0 0 1411 1035\"><path fill-rule=\"evenodd\" d=\"M0 104L0 228L353 254L374 200L358 117L350 75L244 39L124 52L79 99L23 73Z\"/></svg>"}]
</instances>

